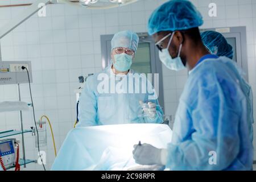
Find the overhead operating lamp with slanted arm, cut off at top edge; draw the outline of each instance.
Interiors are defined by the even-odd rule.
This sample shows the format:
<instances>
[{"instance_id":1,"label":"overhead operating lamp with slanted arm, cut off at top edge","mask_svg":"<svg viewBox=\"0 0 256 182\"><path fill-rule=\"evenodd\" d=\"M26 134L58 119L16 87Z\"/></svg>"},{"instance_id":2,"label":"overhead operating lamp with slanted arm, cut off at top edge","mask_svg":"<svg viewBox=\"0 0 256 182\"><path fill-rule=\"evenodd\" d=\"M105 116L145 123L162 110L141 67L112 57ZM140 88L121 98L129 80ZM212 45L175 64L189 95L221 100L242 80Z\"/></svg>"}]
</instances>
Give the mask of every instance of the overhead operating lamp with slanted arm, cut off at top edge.
<instances>
[{"instance_id":1,"label":"overhead operating lamp with slanted arm, cut off at top edge","mask_svg":"<svg viewBox=\"0 0 256 182\"><path fill-rule=\"evenodd\" d=\"M111 9L114 7L129 5L137 1L138 0L36 0L26 10L16 16L16 18L11 19L10 22L1 28L0 39L41 10L43 6L39 5L42 4L47 6L49 4L64 3L77 7L85 7L86 9Z\"/></svg>"}]
</instances>

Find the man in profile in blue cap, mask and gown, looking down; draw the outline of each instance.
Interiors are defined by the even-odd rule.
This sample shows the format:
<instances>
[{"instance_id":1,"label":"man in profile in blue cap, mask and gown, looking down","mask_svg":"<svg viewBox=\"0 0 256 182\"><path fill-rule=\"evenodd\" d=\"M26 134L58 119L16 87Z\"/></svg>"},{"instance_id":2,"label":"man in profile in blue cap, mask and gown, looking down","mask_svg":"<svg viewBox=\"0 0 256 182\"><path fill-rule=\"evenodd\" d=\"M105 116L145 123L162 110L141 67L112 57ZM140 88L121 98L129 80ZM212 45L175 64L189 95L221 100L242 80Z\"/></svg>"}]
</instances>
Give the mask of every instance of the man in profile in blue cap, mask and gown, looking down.
<instances>
[{"instance_id":1,"label":"man in profile in blue cap, mask and gown, looking down","mask_svg":"<svg viewBox=\"0 0 256 182\"><path fill-rule=\"evenodd\" d=\"M161 164L171 170L250 170L253 145L247 125L242 78L227 57L211 55L199 27L203 18L189 1L158 7L148 33L167 68L187 67L189 77L176 111L172 142L167 148L135 144L138 164Z\"/></svg>"}]
</instances>

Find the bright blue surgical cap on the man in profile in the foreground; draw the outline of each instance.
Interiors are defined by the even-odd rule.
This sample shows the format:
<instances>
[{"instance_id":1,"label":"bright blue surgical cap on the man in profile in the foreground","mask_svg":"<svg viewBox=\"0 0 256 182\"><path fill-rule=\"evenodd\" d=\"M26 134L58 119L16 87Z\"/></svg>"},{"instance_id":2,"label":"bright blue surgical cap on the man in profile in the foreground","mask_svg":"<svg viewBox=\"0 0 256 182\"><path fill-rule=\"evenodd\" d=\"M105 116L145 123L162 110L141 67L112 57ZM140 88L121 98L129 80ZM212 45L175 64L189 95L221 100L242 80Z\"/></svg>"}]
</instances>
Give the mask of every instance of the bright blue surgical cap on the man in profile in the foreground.
<instances>
[{"instance_id":1,"label":"bright blue surgical cap on the man in profile in the foreground","mask_svg":"<svg viewBox=\"0 0 256 182\"><path fill-rule=\"evenodd\" d=\"M203 17L189 1L173 0L158 7L148 20L148 34L200 27Z\"/></svg>"}]
</instances>

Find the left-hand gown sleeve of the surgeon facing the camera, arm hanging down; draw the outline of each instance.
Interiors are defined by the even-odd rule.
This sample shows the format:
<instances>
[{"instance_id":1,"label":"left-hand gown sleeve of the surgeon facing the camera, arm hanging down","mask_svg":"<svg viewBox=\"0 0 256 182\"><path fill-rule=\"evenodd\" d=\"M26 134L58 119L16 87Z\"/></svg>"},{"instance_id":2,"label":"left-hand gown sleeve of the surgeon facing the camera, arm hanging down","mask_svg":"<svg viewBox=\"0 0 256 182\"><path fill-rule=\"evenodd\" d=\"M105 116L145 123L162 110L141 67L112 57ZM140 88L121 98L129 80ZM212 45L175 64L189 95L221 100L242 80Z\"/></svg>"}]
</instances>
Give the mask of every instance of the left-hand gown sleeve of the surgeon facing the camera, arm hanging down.
<instances>
[{"instance_id":1,"label":"left-hand gown sleeve of the surgeon facing the camera, arm hanging down","mask_svg":"<svg viewBox=\"0 0 256 182\"><path fill-rule=\"evenodd\" d=\"M97 98L93 91L93 77L88 77L79 98L79 123L76 127L96 126Z\"/></svg>"}]
</instances>

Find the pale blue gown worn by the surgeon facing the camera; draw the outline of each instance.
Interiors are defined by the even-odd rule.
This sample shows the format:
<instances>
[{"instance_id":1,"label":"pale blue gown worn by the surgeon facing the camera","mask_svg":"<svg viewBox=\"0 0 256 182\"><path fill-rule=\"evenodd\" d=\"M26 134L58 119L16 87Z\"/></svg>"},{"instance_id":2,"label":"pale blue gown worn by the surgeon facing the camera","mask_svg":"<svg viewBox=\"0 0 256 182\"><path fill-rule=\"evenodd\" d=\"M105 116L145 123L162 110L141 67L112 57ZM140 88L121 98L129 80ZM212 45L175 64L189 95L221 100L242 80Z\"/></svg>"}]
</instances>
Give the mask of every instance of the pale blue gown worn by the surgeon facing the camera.
<instances>
[{"instance_id":1,"label":"pale blue gown worn by the surgeon facing the camera","mask_svg":"<svg viewBox=\"0 0 256 182\"><path fill-rule=\"evenodd\" d=\"M143 81L143 79L129 81L129 75L116 76L115 81L113 81L111 76L114 76L114 73L111 67L112 65L87 78L85 88L82 90L79 99L79 123L76 127L127 123L163 123L163 111L150 82L147 79L146 81ZM139 75L134 71L130 71L129 74ZM121 81L125 78L127 83L123 84L122 82L121 84ZM108 81L108 84L103 81ZM144 84L147 84L146 92L143 89ZM139 101L156 104L155 119L139 117L142 109Z\"/></svg>"}]
</instances>

